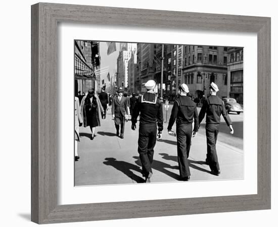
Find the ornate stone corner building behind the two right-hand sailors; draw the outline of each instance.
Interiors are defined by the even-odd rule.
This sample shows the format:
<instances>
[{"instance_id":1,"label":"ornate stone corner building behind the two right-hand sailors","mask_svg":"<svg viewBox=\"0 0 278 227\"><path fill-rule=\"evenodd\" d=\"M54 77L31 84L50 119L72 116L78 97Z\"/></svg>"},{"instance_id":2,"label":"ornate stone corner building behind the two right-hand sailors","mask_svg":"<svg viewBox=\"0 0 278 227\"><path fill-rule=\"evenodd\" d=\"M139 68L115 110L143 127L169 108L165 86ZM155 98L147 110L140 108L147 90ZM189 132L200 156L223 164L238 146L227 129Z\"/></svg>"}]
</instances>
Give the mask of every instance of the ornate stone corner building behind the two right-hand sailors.
<instances>
[{"instance_id":1,"label":"ornate stone corner building behind the two right-hand sailors","mask_svg":"<svg viewBox=\"0 0 278 227\"><path fill-rule=\"evenodd\" d=\"M217 95L227 96L227 47L183 45L181 82L189 86L192 96L209 96L211 82L217 84Z\"/></svg>"}]
</instances>

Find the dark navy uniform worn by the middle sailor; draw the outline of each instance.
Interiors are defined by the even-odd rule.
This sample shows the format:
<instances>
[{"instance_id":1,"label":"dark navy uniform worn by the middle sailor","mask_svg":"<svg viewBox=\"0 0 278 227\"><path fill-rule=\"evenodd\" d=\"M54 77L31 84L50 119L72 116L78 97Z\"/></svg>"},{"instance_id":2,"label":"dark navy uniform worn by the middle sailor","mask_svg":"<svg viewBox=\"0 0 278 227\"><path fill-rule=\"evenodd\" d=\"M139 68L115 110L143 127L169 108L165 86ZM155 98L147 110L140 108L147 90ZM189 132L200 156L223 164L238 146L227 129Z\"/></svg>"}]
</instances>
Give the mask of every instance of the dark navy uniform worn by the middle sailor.
<instances>
[{"instance_id":1,"label":"dark navy uniform worn by the middle sailor","mask_svg":"<svg viewBox=\"0 0 278 227\"><path fill-rule=\"evenodd\" d=\"M174 102L167 129L171 130L176 121L177 160L181 178L190 176L188 157L191 146L193 119L194 131L197 132L199 124L196 104L190 97L180 96Z\"/></svg>"}]
</instances>

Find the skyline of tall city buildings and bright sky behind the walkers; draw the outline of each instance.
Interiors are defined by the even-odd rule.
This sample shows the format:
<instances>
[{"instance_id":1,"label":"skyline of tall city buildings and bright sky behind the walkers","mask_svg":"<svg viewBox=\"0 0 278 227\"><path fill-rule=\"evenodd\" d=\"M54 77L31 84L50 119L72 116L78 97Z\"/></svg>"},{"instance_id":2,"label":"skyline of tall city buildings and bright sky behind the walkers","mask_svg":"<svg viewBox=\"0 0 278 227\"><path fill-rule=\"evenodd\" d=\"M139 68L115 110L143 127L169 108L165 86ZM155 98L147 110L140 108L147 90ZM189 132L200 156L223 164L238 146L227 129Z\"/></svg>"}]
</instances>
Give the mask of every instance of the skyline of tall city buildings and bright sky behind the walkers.
<instances>
[{"instance_id":1,"label":"skyline of tall city buildings and bright sky behind the walkers","mask_svg":"<svg viewBox=\"0 0 278 227\"><path fill-rule=\"evenodd\" d=\"M142 93L149 79L154 79L160 89L162 44L115 42L116 50L108 54L107 42L94 42L98 43L100 55L97 92L105 86L110 93L116 87L127 93ZM233 97L243 103L243 47L163 46L163 96L174 99L177 85L186 83L192 96L207 97L209 84L215 82L221 98Z\"/></svg>"}]
</instances>

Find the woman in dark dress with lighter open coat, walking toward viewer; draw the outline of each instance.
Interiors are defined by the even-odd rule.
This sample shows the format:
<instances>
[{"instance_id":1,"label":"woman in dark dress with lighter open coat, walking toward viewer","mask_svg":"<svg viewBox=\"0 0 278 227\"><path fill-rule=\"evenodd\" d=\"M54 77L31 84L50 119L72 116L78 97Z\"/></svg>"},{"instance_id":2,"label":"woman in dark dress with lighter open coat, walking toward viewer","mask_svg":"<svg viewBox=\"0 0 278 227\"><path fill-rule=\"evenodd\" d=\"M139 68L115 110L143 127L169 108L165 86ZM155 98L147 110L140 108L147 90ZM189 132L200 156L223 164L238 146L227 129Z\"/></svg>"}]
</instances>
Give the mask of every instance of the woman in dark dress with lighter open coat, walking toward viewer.
<instances>
[{"instance_id":1,"label":"woman in dark dress with lighter open coat, walking toward viewer","mask_svg":"<svg viewBox=\"0 0 278 227\"><path fill-rule=\"evenodd\" d=\"M95 89L90 89L87 96L84 96L81 101L81 116L83 117L84 127L90 127L91 140L96 137L96 127L101 126L100 117L103 111L101 101L95 94Z\"/></svg>"}]
</instances>

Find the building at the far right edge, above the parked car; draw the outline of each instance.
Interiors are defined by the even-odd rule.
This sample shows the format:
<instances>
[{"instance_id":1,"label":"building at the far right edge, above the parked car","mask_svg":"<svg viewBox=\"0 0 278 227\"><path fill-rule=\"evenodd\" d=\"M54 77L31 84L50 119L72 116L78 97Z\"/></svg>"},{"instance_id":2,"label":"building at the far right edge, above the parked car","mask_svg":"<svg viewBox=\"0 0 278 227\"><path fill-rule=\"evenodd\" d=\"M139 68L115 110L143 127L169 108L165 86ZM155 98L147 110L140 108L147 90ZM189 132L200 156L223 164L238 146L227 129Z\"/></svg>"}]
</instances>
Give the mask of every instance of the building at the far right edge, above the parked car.
<instances>
[{"instance_id":1,"label":"building at the far right edge, above the parked car","mask_svg":"<svg viewBox=\"0 0 278 227\"><path fill-rule=\"evenodd\" d=\"M243 104L243 47L228 48L227 97Z\"/></svg>"}]
</instances>

